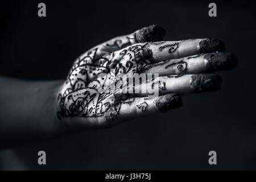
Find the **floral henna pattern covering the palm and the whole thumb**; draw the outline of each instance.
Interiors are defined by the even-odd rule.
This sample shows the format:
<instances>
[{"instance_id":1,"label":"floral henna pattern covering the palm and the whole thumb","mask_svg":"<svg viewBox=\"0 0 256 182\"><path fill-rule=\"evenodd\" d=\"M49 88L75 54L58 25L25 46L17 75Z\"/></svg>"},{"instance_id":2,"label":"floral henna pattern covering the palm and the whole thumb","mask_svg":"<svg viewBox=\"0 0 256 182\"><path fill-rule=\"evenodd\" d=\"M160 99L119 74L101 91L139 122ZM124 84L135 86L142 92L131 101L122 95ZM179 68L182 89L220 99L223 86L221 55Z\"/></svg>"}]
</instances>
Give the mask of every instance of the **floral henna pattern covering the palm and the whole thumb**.
<instances>
[{"instance_id":1,"label":"floral henna pattern covering the palm and the whole thumb","mask_svg":"<svg viewBox=\"0 0 256 182\"><path fill-rule=\"evenodd\" d=\"M158 26L142 28L134 34L100 44L81 55L73 64L60 90L60 110L57 112L59 119L105 117L105 121L112 121L118 115L121 104L131 105L134 99L127 93L120 94L120 89L102 92L102 85L110 83L109 85L114 84L114 88L117 88L123 74L146 70L152 59L152 51L147 42L161 40L164 34L163 28ZM155 42L156 45L162 43ZM145 111L147 103L138 107Z\"/></svg>"}]
</instances>

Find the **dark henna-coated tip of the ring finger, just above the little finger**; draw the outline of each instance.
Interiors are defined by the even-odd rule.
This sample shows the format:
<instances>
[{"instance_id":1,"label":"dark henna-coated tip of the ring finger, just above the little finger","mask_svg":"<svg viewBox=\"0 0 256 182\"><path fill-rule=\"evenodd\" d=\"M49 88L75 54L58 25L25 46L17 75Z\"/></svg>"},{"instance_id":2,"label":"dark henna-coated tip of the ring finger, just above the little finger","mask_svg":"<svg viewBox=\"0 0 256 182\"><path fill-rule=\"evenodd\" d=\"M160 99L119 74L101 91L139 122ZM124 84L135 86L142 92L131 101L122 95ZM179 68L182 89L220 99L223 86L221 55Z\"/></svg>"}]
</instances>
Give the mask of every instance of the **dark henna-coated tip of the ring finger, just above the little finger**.
<instances>
[{"instance_id":1,"label":"dark henna-coated tip of the ring finger, just above the little finger","mask_svg":"<svg viewBox=\"0 0 256 182\"><path fill-rule=\"evenodd\" d=\"M191 77L191 88L194 93L217 91L221 88L221 76L214 74L199 74Z\"/></svg>"}]
</instances>

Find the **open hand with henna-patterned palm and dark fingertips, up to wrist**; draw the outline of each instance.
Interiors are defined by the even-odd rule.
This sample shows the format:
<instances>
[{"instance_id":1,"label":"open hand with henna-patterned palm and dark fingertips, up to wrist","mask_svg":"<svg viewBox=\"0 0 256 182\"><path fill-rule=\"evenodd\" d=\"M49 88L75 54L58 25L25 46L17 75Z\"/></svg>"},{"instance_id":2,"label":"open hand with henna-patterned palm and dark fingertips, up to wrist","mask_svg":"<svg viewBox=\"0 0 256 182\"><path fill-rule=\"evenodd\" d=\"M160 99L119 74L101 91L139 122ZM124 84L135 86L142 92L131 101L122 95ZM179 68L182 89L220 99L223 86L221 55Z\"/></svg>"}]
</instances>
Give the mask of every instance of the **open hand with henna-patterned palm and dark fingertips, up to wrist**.
<instances>
[{"instance_id":1,"label":"open hand with henna-patterned palm and dark fingertips, up to wrist","mask_svg":"<svg viewBox=\"0 0 256 182\"><path fill-rule=\"evenodd\" d=\"M202 73L237 66L235 55L221 52L225 47L220 40L164 42L164 35L163 28L149 26L81 55L61 86L59 119L76 127L108 127L166 112L182 105L180 95L220 89L220 76ZM126 78L138 76L135 73L144 74L146 80L130 84ZM150 96L152 90L155 97Z\"/></svg>"}]
</instances>

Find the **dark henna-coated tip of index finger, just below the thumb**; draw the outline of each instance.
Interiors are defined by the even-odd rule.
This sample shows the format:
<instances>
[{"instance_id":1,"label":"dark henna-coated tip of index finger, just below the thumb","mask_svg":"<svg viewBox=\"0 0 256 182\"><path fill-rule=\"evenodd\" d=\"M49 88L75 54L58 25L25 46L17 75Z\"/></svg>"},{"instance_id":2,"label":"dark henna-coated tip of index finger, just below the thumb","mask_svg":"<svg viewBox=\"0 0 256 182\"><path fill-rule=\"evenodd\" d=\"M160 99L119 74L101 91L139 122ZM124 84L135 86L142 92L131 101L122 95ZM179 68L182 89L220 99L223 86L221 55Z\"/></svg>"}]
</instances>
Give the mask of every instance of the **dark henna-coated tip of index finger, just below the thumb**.
<instances>
[{"instance_id":1,"label":"dark henna-coated tip of index finger, just below the thumb","mask_svg":"<svg viewBox=\"0 0 256 182\"><path fill-rule=\"evenodd\" d=\"M203 39L199 42L197 47L197 53L210 53L216 51L225 51L225 44L222 40Z\"/></svg>"}]
</instances>

